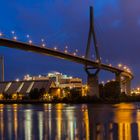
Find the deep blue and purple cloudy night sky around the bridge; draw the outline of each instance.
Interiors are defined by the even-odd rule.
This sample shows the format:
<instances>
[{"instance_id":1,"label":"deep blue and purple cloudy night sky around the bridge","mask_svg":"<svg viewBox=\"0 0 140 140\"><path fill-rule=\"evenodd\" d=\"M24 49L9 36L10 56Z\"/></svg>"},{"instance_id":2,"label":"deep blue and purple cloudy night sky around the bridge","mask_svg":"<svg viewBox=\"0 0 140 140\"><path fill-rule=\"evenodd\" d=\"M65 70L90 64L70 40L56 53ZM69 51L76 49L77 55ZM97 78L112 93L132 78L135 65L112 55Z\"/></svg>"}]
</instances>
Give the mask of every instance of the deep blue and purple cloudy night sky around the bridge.
<instances>
[{"instance_id":1,"label":"deep blue and purple cloudy night sky around the bridge","mask_svg":"<svg viewBox=\"0 0 140 140\"><path fill-rule=\"evenodd\" d=\"M89 6L94 6L95 31L103 62L126 64L135 75L133 86L140 85L140 1L139 0L1 0L0 31L18 40L35 44L46 40L48 47L57 46L85 54L89 30ZM93 47L93 46L92 46ZM39 54L0 48L5 57L6 80L20 79L25 74L38 75L59 71L86 80L83 66ZM100 73L100 80L113 74Z\"/></svg>"}]
</instances>

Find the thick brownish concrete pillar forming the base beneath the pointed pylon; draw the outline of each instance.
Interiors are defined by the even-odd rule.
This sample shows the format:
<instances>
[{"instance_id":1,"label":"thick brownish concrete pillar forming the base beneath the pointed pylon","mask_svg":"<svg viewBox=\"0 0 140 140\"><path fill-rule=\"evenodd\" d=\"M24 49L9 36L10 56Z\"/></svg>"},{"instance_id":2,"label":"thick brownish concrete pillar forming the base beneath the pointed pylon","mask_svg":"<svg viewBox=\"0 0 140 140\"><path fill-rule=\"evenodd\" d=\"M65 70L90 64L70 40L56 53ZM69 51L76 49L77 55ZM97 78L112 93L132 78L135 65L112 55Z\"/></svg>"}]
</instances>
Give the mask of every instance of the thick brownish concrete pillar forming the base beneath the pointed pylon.
<instances>
[{"instance_id":1,"label":"thick brownish concrete pillar forming the base beneath the pointed pylon","mask_svg":"<svg viewBox=\"0 0 140 140\"><path fill-rule=\"evenodd\" d=\"M99 81L98 75L88 74L88 95L99 97Z\"/></svg>"}]
</instances>

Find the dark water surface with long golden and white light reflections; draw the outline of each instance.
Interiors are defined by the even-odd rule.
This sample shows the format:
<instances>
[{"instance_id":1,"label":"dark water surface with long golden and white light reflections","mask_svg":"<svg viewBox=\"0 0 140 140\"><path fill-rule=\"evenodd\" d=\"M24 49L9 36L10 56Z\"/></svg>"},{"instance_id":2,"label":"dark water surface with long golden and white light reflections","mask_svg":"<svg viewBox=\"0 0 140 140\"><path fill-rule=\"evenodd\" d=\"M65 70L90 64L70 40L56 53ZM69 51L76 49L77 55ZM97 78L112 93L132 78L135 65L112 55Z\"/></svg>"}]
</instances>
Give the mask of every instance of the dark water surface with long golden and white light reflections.
<instances>
[{"instance_id":1,"label":"dark water surface with long golden and white light reflections","mask_svg":"<svg viewBox=\"0 0 140 140\"><path fill-rule=\"evenodd\" d=\"M140 139L140 103L0 104L0 140L132 139Z\"/></svg>"}]
</instances>

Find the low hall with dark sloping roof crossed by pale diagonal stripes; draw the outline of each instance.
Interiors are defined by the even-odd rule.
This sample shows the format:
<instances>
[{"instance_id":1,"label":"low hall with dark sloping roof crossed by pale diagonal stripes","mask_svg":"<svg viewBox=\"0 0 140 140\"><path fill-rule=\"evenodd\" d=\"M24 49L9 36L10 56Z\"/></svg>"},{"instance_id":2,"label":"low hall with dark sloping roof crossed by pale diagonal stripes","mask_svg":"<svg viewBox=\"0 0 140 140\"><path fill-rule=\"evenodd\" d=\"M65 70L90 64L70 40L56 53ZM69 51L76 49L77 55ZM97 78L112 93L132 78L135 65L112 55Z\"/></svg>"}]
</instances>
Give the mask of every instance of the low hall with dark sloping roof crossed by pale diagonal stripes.
<instances>
[{"instance_id":1,"label":"low hall with dark sloping roof crossed by pale diagonal stripes","mask_svg":"<svg viewBox=\"0 0 140 140\"><path fill-rule=\"evenodd\" d=\"M12 96L12 99L17 99L18 94L18 98L22 99L22 97L28 96L28 94L34 89L43 89L44 94L47 94L51 88L55 88L55 83L51 80L1 82L0 97L2 98L2 95L6 94Z\"/></svg>"}]
</instances>

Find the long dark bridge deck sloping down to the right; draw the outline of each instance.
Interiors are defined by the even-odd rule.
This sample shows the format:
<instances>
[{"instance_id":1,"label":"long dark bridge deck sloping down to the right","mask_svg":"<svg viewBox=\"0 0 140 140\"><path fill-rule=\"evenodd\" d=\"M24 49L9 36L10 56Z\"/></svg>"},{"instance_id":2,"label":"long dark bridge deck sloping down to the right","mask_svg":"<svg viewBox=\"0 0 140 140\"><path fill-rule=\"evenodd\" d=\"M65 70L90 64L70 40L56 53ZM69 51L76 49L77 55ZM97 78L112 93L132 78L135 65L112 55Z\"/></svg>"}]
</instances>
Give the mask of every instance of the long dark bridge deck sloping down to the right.
<instances>
[{"instance_id":1,"label":"long dark bridge deck sloping down to the right","mask_svg":"<svg viewBox=\"0 0 140 140\"><path fill-rule=\"evenodd\" d=\"M0 46L20 49L20 50L24 50L24 51L28 51L28 52L35 52L35 53L39 53L42 55L49 55L49 56L73 61L73 62L76 62L79 64L88 65L88 66L91 66L94 68L100 67L103 70L110 71L110 72L115 73L115 74L121 74L122 76L127 77L129 79L133 78L132 73L127 72L125 70L122 70L122 69L119 69L119 68L116 68L113 66L109 66L106 64L99 65L98 62L92 61L90 59L86 59L86 58L83 58L80 56L74 56L73 54L65 53L65 52L51 49L51 48L47 48L47 47L43 48L41 46L37 46L34 44L24 43L24 42L20 42L17 40L10 40L7 38L0 38Z\"/></svg>"}]
</instances>

